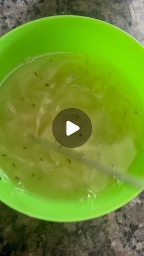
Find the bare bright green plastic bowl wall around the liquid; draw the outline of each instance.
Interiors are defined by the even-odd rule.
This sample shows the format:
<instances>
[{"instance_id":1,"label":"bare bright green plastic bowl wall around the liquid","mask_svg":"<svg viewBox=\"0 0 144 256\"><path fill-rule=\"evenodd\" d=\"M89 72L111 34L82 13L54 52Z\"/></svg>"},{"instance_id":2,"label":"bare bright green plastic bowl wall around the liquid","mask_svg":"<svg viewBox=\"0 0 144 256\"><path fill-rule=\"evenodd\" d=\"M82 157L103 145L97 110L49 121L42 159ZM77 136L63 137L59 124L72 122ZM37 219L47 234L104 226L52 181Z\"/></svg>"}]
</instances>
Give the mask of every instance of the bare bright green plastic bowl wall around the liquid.
<instances>
[{"instance_id":1,"label":"bare bright green plastic bowl wall around the liquid","mask_svg":"<svg viewBox=\"0 0 144 256\"><path fill-rule=\"evenodd\" d=\"M121 70L143 101L144 49L134 38L103 21L82 16L52 16L24 24L0 38L0 81L27 57L72 51L103 57ZM143 161L143 154L139 163ZM0 163L1 166L1 163ZM139 166L140 167L140 166ZM135 174L137 173L135 168ZM144 173L139 174L143 175ZM126 184L104 190L93 201L41 199L20 191L2 177L0 199L21 213L48 221L82 221L116 210L140 192Z\"/></svg>"}]
</instances>

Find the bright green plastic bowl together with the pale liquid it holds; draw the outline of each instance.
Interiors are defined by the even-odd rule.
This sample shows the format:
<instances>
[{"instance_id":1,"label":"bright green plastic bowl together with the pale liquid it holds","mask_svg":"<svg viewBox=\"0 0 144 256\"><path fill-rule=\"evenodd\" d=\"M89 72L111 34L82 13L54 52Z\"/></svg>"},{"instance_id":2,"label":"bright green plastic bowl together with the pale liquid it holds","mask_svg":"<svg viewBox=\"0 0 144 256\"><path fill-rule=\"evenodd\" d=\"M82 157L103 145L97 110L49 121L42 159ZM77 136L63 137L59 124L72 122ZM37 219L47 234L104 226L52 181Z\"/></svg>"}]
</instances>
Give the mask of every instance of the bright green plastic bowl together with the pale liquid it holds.
<instances>
[{"instance_id":1,"label":"bright green plastic bowl together with the pale liquid it holds","mask_svg":"<svg viewBox=\"0 0 144 256\"><path fill-rule=\"evenodd\" d=\"M143 60L143 46L130 35L81 16L43 18L4 35L1 201L35 218L81 221L137 196L140 189L124 182L123 174L144 177ZM65 119L79 127L66 134L70 145L55 138L52 123L65 109L90 119L83 144L87 125L81 114ZM67 124L62 127L56 123L57 133L66 133ZM85 159L117 170L121 178Z\"/></svg>"}]
</instances>

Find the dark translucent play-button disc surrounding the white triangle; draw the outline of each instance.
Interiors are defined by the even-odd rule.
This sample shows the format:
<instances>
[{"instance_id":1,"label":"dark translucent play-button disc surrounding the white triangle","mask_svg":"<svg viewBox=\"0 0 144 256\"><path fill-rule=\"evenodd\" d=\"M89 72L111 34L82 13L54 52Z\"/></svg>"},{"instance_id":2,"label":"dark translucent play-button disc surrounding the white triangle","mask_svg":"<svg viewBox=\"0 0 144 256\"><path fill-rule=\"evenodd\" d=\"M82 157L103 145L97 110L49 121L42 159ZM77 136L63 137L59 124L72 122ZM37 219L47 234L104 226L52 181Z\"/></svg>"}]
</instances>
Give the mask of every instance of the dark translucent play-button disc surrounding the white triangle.
<instances>
[{"instance_id":1,"label":"dark translucent play-button disc surrounding the white triangle","mask_svg":"<svg viewBox=\"0 0 144 256\"><path fill-rule=\"evenodd\" d=\"M79 126L80 130L67 136L67 121ZM68 148L80 147L87 142L92 133L92 122L88 115L80 109L64 109L54 118L52 123L52 133L60 145Z\"/></svg>"}]
</instances>

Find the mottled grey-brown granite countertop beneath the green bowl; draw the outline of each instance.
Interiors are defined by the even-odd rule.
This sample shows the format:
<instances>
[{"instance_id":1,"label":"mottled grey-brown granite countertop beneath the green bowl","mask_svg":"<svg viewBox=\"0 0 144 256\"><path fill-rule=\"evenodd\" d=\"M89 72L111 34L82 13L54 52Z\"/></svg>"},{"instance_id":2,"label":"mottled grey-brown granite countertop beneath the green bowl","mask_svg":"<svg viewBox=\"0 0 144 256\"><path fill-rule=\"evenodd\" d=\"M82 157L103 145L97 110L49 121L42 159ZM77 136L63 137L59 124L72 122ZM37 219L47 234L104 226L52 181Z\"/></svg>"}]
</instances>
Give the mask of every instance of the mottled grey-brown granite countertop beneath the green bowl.
<instances>
[{"instance_id":1,"label":"mottled grey-brown granite countertop beneath the green bowl","mask_svg":"<svg viewBox=\"0 0 144 256\"><path fill-rule=\"evenodd\" d=\"M57 14L108 21L144 45L143 0L0 0L0 35ZM113 213L76 223L40 221L0 207L0 256L144 255L144 192Z\"/></svg>"}]
</instances>

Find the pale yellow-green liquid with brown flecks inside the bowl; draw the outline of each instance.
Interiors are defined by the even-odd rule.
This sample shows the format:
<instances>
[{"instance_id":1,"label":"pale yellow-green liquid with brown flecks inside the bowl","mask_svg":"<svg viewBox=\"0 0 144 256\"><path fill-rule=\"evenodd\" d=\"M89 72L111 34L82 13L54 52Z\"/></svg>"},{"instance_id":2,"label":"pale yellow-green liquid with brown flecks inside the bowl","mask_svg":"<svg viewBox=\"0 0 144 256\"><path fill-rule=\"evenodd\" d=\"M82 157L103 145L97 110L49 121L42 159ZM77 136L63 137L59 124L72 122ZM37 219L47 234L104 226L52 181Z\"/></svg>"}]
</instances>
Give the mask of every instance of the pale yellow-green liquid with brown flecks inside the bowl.
<instances>
[{"instance_id":1,"label":"pale yellow-green liquid with brown flecks inside the bowl","mask_svg":"<svg viewBox=\"0 0 144 256\"><path fill-rule=\"evenodd\" d=\"M29 60L1 84L1 170L21 189L40 197L95 198L118 181L44 148L35 138L59 147L51 130L54 117L66 108L81 109L90 117L93 131L74 150L124 172L141 148L139 98L129 81L103 60L72 53Z\"/></svg>"}]
</instances>

